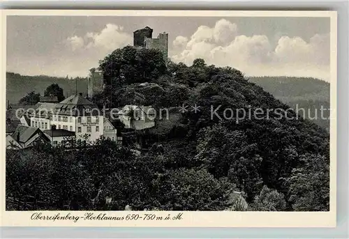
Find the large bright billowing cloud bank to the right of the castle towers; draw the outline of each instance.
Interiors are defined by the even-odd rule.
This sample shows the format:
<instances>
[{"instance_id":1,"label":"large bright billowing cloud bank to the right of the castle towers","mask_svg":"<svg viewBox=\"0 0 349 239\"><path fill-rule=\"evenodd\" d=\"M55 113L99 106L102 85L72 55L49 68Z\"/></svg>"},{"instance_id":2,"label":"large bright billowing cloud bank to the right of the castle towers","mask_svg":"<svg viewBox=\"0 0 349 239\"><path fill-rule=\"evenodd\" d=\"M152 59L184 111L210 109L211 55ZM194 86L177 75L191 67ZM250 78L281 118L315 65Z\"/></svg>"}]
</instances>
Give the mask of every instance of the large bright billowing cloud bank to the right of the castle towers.
<instances>
[{"instance_id":1,"label":"large bright billowing cloud bank to the right of the castle towers","mask_svg":"<svg viewBox=\"0 0 349 239\"><path fill-rule=\"evenodd\" d=\"M316 34L308 41L296 36L280 34L274 39L265 35L244 36L237 33L237 25L219 20L214 28L199 26L189 38L177 37L173 45L181 43L181 50L171 59L188 65L202 58L208 64L230 65L246 75L294 75L329 80L329 34Z\"/></svg>"}]
</instances>

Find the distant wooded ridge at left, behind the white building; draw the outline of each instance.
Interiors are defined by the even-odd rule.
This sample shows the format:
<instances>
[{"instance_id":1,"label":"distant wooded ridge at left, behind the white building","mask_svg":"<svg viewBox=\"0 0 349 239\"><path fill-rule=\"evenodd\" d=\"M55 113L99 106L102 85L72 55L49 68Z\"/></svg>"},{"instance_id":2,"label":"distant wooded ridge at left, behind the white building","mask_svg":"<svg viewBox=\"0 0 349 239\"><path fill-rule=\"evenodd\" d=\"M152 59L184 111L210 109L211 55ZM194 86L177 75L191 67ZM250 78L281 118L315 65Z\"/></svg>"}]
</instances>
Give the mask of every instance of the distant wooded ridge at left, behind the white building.
<instances>
[{"instance_id":1,"label":"distant wooded ridge at left, behind the white building","mask_svg":"<svg viewBox=\"0 0 349 239\"><path fill-rule=\"evenodd\" d=\"M43 95L47 86L50 84L59 84L64 90L64 96L75 93L75 79L77 91L87 94L87 78L64 78L50 77L47 75L27 76L13 72L6 72L6 100L10 103L17 103L22 97L31 91L36 91Z\"/></svg>"}]
</instances>

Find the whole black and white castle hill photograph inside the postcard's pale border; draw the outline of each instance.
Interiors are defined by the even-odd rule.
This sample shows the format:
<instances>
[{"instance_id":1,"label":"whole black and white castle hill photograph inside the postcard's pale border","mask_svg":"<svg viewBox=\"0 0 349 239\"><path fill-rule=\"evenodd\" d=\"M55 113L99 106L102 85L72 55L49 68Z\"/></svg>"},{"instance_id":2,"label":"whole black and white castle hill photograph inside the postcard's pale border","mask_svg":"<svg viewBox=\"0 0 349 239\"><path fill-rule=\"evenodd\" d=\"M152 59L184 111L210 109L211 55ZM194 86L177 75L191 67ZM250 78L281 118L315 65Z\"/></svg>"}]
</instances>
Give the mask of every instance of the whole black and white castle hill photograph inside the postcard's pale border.
<instances>
[{"instance_id":1,"label":"whole black and white castle hill photograph inside the postcard's pale border","mask_svg":"<svg viewBox=\"0 0 349 239\"><path fill-rule=\"evenodd\" d=\"M331 26L8 15L6 211L329 212Z\"/></svg>"}]
</instances>

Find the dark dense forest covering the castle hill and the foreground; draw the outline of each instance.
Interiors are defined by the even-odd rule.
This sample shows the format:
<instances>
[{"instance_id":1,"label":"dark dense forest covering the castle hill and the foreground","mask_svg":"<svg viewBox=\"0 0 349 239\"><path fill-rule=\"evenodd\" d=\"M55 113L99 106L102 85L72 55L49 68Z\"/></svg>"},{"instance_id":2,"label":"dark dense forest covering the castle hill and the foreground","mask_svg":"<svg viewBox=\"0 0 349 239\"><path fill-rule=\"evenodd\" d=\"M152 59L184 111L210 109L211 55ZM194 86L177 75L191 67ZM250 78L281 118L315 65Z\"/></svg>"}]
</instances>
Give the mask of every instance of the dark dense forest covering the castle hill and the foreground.
<instances>
[{"instance_id":1,"label":"dark dense forest covering the castle hill and the foreground","mask_svg":"<svg viewBox=\"0 0 349 239\"><path fill-rule=\"evenodd\" d=\"M7 210L329 210L325 128L274 113L239 122L210 117L219 105L289 109L239 70L202 59L166 65L155 49L130 46L105 56L99 68L109 86L92 99L98 105L198 104L200 111L181 113L168 130L145 132L151 147L140 155L103 138L70 151L6 150Z\"/></svg>"}]
</instances>

